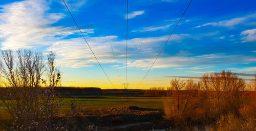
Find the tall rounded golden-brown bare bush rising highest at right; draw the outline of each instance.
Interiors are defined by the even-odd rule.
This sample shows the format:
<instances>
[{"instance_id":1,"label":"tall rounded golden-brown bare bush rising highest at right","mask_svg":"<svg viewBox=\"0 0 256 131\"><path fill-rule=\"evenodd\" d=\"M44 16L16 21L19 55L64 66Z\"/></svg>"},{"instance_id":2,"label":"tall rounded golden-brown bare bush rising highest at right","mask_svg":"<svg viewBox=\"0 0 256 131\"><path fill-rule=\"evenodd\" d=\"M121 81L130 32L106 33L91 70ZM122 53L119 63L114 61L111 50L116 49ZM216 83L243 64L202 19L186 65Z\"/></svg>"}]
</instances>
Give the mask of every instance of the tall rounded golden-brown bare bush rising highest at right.
<instances>
[{"instance_id":1,"label":"tall rounded golden-brown bare bush rising highest at right","mask_svg":"<svg viewBox=\"0 0 256 131\"><path fill-rule=\"evenodd\" d=\"M245 81L236 74L204 74L202 88L207 94L210 113L220 116L223 113L238 113L244 100Z\"/></svg>"}]
</instances>

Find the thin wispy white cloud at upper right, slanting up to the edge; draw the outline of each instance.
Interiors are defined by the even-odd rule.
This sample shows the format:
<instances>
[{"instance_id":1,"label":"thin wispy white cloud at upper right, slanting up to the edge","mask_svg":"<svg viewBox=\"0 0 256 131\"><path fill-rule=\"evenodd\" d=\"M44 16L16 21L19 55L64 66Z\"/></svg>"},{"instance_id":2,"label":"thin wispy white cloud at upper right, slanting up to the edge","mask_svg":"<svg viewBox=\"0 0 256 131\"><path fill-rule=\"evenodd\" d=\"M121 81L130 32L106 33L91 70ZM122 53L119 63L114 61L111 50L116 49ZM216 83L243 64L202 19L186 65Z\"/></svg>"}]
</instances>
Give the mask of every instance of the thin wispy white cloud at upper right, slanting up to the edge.
<instances>
[{"instance_id":1,"label":"thin wispy white cloud at upper right, slanting up to the edge","mask_svg":"<svg viewBox=\"0 0 256 131\"><path fill-rule=\"evenodd\" d=\"M256 13L251 14L251 15L247 15L247 16L244 16L244 17L232 18L232 19L229 19L229 20L206 23L206 24L197 26L196 28L200 28L200 27L204 27L204 26L218 26L218 27L229 27L230 28L230 27L242 24L246 20L254 19L254 18L256 18Z\"/></svg>"}]
</instances>

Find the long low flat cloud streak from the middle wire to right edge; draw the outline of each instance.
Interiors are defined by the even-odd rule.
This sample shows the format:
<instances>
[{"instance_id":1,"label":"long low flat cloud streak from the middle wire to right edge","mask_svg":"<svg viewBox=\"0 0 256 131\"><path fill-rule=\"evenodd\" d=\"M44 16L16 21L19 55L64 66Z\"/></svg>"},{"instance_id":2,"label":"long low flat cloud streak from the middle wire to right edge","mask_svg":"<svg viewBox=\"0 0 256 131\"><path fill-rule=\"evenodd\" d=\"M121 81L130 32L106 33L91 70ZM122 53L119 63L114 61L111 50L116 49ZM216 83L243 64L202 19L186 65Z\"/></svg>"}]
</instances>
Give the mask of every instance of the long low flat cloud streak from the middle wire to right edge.
<instances>
[{"instance_id":1,"label":"long low flat cloud streak from the middle wire to right edge","mask_svg":"<svg viewBox=\"0 0 256 131\"><path fill-rule=\"evenodd\" d=\"M129 62L129 67L137 67L148 69L154 62L155 58L136 60ZM225 54L209 54L191 57L161 57L158 58L153 68L170 68L170 67L185 67L197 65L223 65L223 64L237 64L237 63L253 63L255 59L253 56L244 55L225 55Z\"/></svg>"}]
</instances>

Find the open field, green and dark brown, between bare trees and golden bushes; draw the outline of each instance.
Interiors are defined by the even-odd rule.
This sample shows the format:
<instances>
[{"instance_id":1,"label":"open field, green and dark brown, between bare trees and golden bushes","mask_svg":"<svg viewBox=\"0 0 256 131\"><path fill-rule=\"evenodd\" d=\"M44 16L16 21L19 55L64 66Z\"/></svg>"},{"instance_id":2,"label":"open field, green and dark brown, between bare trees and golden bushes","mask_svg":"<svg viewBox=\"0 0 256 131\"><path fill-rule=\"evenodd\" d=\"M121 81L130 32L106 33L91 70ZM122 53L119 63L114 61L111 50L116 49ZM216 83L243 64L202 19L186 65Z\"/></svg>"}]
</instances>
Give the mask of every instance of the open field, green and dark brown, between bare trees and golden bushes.
<instances>
[{"instance_id":1,"label":"open field, green and dark brown, between bare trees and golden bushes","mask_svg":"<svg viewBox=\"0 0 256 131\"><path fill-rule=\"evenodd\" d=\"M98 123L99 127L112 127L117 130L119 125L131 124L131 128L151 128L163 118L163 97L144 96L143 94L120 94L120 93L102 93L102 94L72 94L56 97L63 102L60 107L59 117L70 113L70 100L75 100L75 105L83 107L86 113L88 123ZM1 104L3 101L0 101ZM1 107L1 121L10 123L10 116ZM100 117L100 121L98 121ZM133 125L135 124L135 125ZM142 124L142 125L140 125ZM116 126L116 127L115 127ZM4 129L0 125L0 129Z\"/></svg>"}]
</instances>

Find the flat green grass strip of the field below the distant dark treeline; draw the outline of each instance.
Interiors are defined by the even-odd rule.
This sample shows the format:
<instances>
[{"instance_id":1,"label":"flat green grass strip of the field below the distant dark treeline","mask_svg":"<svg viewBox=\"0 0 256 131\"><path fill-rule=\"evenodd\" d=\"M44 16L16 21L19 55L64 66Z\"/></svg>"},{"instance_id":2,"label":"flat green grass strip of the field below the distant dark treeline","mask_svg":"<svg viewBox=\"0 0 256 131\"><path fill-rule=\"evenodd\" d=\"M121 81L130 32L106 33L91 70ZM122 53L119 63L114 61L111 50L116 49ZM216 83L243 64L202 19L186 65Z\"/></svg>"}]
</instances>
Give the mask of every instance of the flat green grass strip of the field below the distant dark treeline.
<instances>
[{"instance_id":1,"label":"flat green grass strip of the field below the distant dark treeline","mask_svg":"<svg viewBox=\"0 0 256 131\"><path fill-rule=\"evenodd\" d=\"M58 96L62 100L60 114L66 114L70 111L69 102L75 100L75 105L83 106L86 110L93 110L105 107L128 107L138 106L144 108L163 108L163 97L147 97L143 95L79 95L79 96ZM2 103L2 101L0 101ZM9 115L3 107L0 108L2 119L8 119Z\"/></svg>"}]
</instances>

